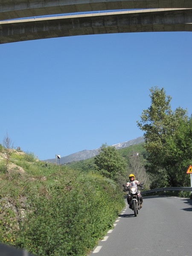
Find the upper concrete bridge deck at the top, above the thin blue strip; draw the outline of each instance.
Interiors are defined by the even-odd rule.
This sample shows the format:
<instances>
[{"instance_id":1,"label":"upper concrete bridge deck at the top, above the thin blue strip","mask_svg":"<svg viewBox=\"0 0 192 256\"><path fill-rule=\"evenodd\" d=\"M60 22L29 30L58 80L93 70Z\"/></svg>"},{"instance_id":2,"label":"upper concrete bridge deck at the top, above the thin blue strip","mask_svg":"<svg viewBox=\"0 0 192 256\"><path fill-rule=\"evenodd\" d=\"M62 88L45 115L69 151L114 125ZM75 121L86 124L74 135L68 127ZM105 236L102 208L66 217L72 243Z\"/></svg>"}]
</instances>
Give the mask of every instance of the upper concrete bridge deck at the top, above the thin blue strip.
<instances>
[{"instance_id":1,"label":"upper concrete bridge deck at the top, above the thin blue strip","mask_svg":"<svg viewBox=\"0 0 192 256\"><path fill-rule=\"evenodd\" d=\"M192 0L0 0L0 20L117 9L192 8Z\"/></svg>"}]
</instances>

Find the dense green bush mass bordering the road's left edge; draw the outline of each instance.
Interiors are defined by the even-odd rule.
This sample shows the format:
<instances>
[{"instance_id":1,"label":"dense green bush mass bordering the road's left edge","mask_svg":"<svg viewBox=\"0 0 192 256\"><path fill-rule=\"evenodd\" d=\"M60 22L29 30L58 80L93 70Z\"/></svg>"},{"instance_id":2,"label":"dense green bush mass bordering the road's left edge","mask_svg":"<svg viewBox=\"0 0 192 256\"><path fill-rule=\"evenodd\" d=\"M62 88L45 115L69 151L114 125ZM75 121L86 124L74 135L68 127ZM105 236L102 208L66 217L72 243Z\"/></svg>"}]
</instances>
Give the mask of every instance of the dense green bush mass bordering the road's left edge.
<instances>
[{"instance_id":1,"label":"dense green bush mass bordering the road's left edge","mask_svg":"<svg viewBox=\"0 0 192 256\"><path fill-rule=\"evenodd\" d=\"M122 194L100 176L60 173L50 186L29 192L30 211L17 246L39 256L83 256L113 227ZM31 193L31 194L30 194Z\"/></svg>"}]
</instances>

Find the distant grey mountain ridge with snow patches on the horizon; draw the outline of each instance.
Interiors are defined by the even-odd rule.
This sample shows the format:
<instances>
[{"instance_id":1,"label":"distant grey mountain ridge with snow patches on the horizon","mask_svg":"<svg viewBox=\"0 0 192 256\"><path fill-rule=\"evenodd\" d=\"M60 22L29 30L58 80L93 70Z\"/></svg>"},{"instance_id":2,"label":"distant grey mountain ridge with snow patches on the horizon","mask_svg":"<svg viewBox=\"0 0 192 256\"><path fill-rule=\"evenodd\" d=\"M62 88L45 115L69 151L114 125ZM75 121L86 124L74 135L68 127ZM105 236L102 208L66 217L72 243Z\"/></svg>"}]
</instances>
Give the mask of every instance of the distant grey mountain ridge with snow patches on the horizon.
<instances>
[{"instance_id":1,"label":"distant grey mountain ridge with snow patches on the horizon","mask_svg":"<svg viewBox=\"0 0 192 256\"><path fill-rule=\"evenodd\" d=\"M143 142L144 142L144 137L142 136L142 137L138 137L137 139L129 140L129 141L122 142L122 143L118 143L118 144L115 144L115 145L112 145L112 146L115 147L116 149L120 149L120 148L127 148L131 145L140 144L140 143L143 143ZM70 154L66 157L61 157L60 164L86 160L86 159L95 157L97 154L99 154L99 148L96 148L96 149L93 149L93 150L82 150L82 151L79 151L77 153ZM55 158L44 160L44 162L55 163Z\"/></svg>"}]
</instances>

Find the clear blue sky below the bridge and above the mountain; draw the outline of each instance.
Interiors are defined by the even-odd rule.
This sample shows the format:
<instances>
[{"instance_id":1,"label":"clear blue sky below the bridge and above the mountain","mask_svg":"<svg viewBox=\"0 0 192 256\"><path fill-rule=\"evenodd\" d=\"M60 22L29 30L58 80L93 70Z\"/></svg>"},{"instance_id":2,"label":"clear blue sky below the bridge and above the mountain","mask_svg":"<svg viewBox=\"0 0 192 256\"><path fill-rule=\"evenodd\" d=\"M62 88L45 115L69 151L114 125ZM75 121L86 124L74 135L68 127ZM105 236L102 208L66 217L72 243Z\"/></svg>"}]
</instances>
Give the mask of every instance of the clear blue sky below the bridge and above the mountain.
<instances>
[{"instance_id":1,"label":"clear blue sky below the bridge and above the mountain","mask_svg":"<svg viewBox=\"0 0 192 256\"><path fill-rule=\"evenodd\" d=\"M149 88L192 113L192 32L82 35L0 45L0 143L40 160L143 135Z\"/></svg>"}]
</instances>

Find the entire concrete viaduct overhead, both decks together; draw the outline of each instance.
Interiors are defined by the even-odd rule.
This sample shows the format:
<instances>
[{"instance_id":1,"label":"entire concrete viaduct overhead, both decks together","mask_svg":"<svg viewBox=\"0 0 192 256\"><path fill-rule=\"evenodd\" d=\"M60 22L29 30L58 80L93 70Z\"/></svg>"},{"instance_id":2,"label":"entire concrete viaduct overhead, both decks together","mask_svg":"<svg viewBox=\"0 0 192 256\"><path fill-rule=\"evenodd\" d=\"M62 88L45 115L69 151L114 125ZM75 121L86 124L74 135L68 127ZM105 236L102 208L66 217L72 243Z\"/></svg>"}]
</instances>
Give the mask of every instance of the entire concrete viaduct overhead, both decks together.
<instances>
[{"instance_id":1,"label":"entire concrete viaduct overhead, both decks together","mask_svg":"<svg viewBox=\"0 0 192 256\"><path fill-rule=\"evenodd\" d=\"M107 10L115 11L103 12ZM85 13L94 11L102 12ZM84 13L66 15L77 12ZM58 14L65 15L52 16ZM49 17L39 17L44 15ZM0 44L73 35L192 31L192 0L0 0L0 20Z\"/></svg>"}]
</instances>

